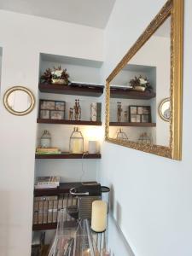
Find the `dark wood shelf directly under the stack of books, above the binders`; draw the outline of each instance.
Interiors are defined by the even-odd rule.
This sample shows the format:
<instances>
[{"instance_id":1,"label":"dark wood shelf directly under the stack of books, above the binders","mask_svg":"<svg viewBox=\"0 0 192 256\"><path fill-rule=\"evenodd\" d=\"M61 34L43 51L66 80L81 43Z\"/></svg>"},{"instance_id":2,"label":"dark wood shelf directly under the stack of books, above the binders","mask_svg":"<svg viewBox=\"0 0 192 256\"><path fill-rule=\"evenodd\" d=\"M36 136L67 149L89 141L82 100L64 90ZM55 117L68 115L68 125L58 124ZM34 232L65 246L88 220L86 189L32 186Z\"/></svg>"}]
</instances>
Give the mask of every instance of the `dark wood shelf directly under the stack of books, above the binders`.
<instances>
[{"instance_id":1,"label":"dark wood shelf directly under the stack of books, above the binders","mask_svg":"<svg viewBox=\"0 0 192 256\"><path fill-rule=\"evenodd\" d=\"M79 187L81 183L60 183L56 189L34 189L34 196L60 195L68 193L70 189Z\"/></svg>"}]
</instances>

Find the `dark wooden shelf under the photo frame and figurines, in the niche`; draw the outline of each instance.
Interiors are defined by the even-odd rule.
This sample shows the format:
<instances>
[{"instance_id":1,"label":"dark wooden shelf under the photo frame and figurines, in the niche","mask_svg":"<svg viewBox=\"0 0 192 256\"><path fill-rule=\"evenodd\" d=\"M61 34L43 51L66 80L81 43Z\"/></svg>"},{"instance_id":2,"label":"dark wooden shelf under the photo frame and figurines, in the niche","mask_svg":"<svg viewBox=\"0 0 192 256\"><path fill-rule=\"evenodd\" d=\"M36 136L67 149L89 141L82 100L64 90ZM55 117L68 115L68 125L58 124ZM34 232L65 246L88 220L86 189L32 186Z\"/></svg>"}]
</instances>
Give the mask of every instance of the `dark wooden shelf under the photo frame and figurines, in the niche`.
<instances>
[{"instance_id":1,"label":"dark wooden shelf under the photo frame and figurines, in the niche","mask_svg":"<svg viewBox=\"0 0 192 256\"><path fill-rule=\"evenodd\" d=\"M37 119L38 124L55 124L55 125L102 125L102 122L93 121L75 121L75 120L58 120L58 119Z\"/></svg>"}]
</instances>

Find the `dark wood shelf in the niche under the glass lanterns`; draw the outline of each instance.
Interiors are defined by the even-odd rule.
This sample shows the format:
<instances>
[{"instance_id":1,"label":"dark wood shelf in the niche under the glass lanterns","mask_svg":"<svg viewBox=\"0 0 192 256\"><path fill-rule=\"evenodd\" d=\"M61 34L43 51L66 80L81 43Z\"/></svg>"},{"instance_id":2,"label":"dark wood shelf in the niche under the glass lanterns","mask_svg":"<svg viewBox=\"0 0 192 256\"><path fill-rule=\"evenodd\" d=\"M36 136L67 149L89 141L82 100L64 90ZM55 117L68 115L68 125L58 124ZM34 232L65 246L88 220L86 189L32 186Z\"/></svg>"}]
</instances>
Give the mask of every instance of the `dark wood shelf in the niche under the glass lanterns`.
<instances>
[{"instance_id":1,"label":"dark wood shelf in the niche under the glass lanterns","mask_svg":"<svg viewBox=\"0 0 192 256\"><path fill-rule=\"evenodd\" d=\"M101 159L101 154L69 154L62 152L61 154L35 154L36 159Z\"/></svg>"}]
</instances>

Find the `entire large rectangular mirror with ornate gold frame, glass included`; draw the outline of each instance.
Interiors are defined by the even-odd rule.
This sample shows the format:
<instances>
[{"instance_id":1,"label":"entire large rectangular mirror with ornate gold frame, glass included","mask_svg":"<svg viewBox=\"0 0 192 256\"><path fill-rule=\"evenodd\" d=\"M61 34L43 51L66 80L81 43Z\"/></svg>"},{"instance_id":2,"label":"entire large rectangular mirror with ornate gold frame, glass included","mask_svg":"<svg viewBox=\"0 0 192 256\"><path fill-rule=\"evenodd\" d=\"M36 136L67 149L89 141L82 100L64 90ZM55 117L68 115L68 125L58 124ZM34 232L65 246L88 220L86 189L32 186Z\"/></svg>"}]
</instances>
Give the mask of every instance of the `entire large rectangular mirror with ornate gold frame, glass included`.
<instances>
[{"instance_id":1,"label":"entire large rectangular mirror with ornate gold frame, glass included","mask_svg":"<svg viewBox=\"0 0 192 256\"><path fill-rule=\"evenodd\" d=\"M105 140L181 160L182 88L183 0L169 0L106 80ZM158 113L165 98L168 122Z\"/></svg>"}]
</instances>

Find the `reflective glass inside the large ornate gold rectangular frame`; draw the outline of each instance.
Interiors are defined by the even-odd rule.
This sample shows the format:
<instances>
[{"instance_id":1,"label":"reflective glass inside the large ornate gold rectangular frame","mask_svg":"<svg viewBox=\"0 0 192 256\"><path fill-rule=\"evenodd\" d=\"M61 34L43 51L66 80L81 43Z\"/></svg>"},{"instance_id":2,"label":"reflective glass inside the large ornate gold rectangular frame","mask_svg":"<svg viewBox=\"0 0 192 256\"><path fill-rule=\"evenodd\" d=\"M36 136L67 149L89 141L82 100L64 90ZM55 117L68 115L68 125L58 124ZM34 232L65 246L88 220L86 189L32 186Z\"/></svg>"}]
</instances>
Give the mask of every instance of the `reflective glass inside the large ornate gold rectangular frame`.
<instances>
[{"instance_id":1,"label":"reflective glass inside the large ornate gold rectangular frame","mask_svg":"<svg viewBox=\"0 0 192 256\"><path fill-rule=\"evenodd\" d=\"M170 98L170 76L168 17L110 82L109 137L169 147L170 123L161 118L159 106Z\"/></svg>"}]
</instances>

